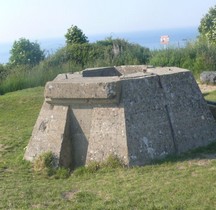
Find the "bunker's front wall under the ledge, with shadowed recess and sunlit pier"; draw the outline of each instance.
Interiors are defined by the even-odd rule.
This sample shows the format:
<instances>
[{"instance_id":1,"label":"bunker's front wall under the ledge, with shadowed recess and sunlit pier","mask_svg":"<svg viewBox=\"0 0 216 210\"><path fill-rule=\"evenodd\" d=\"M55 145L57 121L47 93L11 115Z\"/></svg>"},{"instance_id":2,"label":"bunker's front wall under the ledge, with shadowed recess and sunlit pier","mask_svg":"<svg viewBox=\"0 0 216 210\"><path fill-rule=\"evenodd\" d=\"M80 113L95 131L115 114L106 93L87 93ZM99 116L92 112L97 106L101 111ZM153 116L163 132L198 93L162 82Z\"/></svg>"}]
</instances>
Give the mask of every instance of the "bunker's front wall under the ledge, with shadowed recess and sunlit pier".
<instances>
[{"instance_id":1,"label":"bunker's front wall under the ledge, with shadowed recess and sunlit pier","mask_svg":"<svg viewBox=\"0 0 216 210\"><path fill-rule=\"evenodd\" d=\"M124 109L114 105L70 106L72 168L110 154L128 163Z\"/></svg>"}]
</instances>

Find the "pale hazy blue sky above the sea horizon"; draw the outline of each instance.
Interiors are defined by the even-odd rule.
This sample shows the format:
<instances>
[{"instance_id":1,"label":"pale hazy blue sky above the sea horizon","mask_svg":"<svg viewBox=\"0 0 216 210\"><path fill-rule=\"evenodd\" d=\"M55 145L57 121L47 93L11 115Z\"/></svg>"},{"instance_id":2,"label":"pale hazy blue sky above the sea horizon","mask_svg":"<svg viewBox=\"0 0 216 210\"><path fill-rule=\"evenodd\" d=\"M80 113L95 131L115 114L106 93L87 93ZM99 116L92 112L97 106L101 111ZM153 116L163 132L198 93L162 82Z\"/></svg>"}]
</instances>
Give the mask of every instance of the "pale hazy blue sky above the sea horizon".
<instances>
[{"instance_id":1,"label":"pale hazy blue sky above the sea horizon","mask_svg":"<svg viewBox=\"0 0 216 210\"><path fill-rule=\"evenodd\" d=\"M0 0L0 43L198 27L215 0Z\"/></svg>"}]
</instances>

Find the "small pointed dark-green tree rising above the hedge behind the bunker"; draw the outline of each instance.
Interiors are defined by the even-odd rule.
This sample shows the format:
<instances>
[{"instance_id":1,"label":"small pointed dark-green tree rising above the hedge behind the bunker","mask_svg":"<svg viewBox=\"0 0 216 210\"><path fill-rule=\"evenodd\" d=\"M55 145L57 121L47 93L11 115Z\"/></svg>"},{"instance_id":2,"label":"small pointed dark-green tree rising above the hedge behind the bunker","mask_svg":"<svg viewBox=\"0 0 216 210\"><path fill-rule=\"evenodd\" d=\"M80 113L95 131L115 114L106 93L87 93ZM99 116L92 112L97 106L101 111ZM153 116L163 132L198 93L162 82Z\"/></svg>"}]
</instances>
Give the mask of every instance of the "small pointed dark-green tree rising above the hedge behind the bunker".
<instances>
[{"instance_id":1,"label":"small pointed dark-green tree rising above the hedge behind the bunker","mask_svg":"<svg viewBox=\"0 0 216 210\"><path fill-rule=\"evenodd\" d=\"M65 34L67 45L88 43L88 38L77 26L71 26Z\"/></svg>"}]
</instances>

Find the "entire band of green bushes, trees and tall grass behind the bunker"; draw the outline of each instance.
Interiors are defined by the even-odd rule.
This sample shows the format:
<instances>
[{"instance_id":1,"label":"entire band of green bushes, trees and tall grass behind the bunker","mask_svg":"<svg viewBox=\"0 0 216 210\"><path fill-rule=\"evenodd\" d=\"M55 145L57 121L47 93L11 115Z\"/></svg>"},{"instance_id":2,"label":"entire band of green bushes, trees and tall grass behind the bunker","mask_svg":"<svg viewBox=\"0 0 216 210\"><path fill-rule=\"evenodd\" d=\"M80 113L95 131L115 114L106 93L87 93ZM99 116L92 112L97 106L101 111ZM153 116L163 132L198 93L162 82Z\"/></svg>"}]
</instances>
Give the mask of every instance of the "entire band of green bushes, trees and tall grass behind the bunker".
<instances>
[{"instance_id":1,"label":"entire band of green bushes, trees and tall grass behind the bunker","mask_svg":"<svg viewBox=\"0 0 216 210\"><path fill-rule=\"evenodd\" d=\"M189 69L198 78L202 71L216 71L216 5L201 19L199 37L184 48L150 51L124 39L109 37L89 43L76 25L65 34L66 47L45 56L40 45L20 38L11 49L10 61L0 65L0 95L35 86L44 86L59 73L88 67L139 65L176 66Z\"/></svg>"}]
</instances>

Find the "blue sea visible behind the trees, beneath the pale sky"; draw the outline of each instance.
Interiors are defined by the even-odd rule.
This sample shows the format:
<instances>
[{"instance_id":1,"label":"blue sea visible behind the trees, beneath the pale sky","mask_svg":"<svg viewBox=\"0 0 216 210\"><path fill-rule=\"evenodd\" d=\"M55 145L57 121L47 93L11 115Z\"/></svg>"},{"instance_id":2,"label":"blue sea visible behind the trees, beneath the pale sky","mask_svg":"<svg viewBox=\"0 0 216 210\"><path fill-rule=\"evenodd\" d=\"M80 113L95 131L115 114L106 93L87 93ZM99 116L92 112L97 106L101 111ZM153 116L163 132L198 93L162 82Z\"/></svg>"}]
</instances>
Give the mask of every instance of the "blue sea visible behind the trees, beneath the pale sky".
<instances>
[{"instance_id":1,"label":"blue sea visible behind the trees, beneath the pale sky","mask_svg":"<svg viewBox=\"0 0 216 210\"><path fill-rule=\"evenodd\" d=\"M90 43L104 40L108 37L125 39L130 43L140 44L141 46L147 47L150 50L163 49L168 46L172 47L184 47L189 41L193 41L199 35L198 27L187 27L187 28L172 28L172 29L155 29L155 30L143 30L136 32L125 32L125 33L106 33L106 34L95 34L87 35ZM161 36L168 36L169 43L163 45L160 42ZM45 51L46 55L55 53L58 49L65 46L65 37L50 38L50 39L38 39L30 40L40 44L42 50ZM9 61L10 50L13 42L1 43L0 42L0 64L6 64Z\"/></svg>"}]
</instances>

